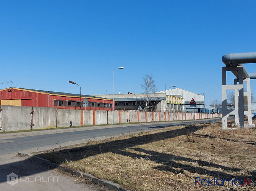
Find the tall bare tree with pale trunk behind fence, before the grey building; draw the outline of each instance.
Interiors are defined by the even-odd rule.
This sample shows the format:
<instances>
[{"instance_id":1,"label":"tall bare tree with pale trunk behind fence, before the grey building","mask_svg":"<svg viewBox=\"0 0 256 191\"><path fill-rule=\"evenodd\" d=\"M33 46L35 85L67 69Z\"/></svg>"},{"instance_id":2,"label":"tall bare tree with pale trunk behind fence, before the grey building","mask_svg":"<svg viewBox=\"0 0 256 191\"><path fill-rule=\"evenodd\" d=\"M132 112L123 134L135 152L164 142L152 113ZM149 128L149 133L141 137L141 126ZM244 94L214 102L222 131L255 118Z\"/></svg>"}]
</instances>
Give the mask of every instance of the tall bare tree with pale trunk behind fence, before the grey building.
<instances>
[{"instance_id":1,"label":"tall bare tree with pale trunk behind fence, before the grey building","mask_svg":"<svg viewBox=\"0 0 256 191\"><path fill-rule=\"evenodd\" d=\"M146 74L144 76L141 88L143 89L142 94L144 94L145 110L147 110L149 102L151 101L150 94L157 91L157 87L155 81L153 80L152 74Z\"/></svg>"}]
</instances>

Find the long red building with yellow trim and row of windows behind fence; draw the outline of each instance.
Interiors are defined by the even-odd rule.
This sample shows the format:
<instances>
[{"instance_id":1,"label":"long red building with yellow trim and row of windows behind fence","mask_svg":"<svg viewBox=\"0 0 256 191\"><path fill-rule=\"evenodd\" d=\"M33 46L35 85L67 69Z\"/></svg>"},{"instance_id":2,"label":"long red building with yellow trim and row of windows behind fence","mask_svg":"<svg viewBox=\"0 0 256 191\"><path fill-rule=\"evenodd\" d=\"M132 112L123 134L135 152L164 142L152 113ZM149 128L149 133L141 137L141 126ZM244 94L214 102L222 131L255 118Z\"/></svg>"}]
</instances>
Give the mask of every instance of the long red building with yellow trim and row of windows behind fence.
<instances>
[{"instance_id":1,"label":"long red building with yellow trim and row of windows behind fence","mask_svg":"<svg viewBox=\"0 0 256 191\"><path fill-rule=\"evenodd\" d=\"M112 99L24 88L0 90L0 105L55 107L60 109L113 110ZM81 105L81 108L80 108Z\"/></svg>"}]
</instances>

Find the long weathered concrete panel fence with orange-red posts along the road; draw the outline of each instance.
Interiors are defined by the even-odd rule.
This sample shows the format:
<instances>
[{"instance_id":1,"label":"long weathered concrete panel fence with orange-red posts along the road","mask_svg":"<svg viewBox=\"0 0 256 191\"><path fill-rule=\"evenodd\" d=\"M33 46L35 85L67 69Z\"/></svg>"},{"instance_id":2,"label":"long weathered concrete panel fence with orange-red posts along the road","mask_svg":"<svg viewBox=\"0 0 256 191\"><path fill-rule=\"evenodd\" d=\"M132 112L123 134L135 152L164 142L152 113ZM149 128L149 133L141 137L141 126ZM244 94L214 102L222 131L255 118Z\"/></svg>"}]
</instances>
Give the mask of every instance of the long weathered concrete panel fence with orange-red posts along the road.
<instances>
[{"instance_id":1,"label":"long weathered concrete panel fence with orange-red posts along the road","mask_svg":"<svg viewBox=\"0 0 256 191\"><path fill-rule=\"evenodd\" d=\"M115 123L176 121L222 117L221 113L115 111ZM0 106L1 131L112 124L113 111Z\"/></svg>"}]
</instances>

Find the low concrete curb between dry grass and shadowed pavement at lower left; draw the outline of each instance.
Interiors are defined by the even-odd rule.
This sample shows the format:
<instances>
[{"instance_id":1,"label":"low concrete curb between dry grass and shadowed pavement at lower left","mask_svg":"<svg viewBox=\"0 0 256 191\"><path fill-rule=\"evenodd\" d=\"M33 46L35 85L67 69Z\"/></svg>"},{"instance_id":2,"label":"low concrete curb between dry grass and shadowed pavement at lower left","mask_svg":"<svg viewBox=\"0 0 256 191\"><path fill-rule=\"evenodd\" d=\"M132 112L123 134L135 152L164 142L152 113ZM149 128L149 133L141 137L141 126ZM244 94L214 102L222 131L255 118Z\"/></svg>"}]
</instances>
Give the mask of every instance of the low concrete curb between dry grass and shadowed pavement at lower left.
<instances>
[{"instance_id":1,"label":"low concrete curb between dry grass and shadowed pavement at lower left","mask_svg":"<svg viewBox=\"0 0 256 191\"><path fill-rule=\"evenodd\" d=\"M64 172L70 173L72 175L75 175L77 177L84 177L84 178L89 178L91 179L92 183L94 184L98 184L98 185L104 185L107 189L109 190L115 190L115 191L130 191L128 189L122 188L121 185L114 183L112 181L109 180L105 180L105 179L99 179L97 177L94 177L93 175L86 173L86 172L82 172L80 170L71 170L69 168L66 168L64 166L61 166L58 163L52 163L52 161L48 160L48 159L44 159L41 158L39 156L36 156L34 154L31 153L22 153L19 152L18 153L19 156L29 156L29 158L34 158L36 161L39 162L43 162L44 164L46 164L47 166L62 170Z\"/></svg>"}]
</instances>

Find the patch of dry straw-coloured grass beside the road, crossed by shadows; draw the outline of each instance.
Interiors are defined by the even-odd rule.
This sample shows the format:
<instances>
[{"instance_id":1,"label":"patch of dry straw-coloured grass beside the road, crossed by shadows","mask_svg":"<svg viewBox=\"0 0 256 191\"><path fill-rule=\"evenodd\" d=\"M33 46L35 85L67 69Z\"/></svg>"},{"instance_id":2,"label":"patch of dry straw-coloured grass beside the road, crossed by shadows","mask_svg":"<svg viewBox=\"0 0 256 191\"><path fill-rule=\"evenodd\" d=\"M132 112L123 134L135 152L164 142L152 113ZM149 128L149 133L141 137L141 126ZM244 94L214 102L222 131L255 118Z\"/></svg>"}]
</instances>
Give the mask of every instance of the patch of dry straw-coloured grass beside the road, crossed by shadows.
<instances>
[{"instance_id":1,"label":"patch of dry straw-coloured grass beside the road, crossed by shadows","mask_svg":"<svg viewBox=\"0 0 256 191\"><path fill-rule=\"evenodd\" d=\"M256 189L256 129L177 126L38 154L139 191ZM194 177L252 178L250 186L194 186Z\"/></svg>"}]
</instances>

